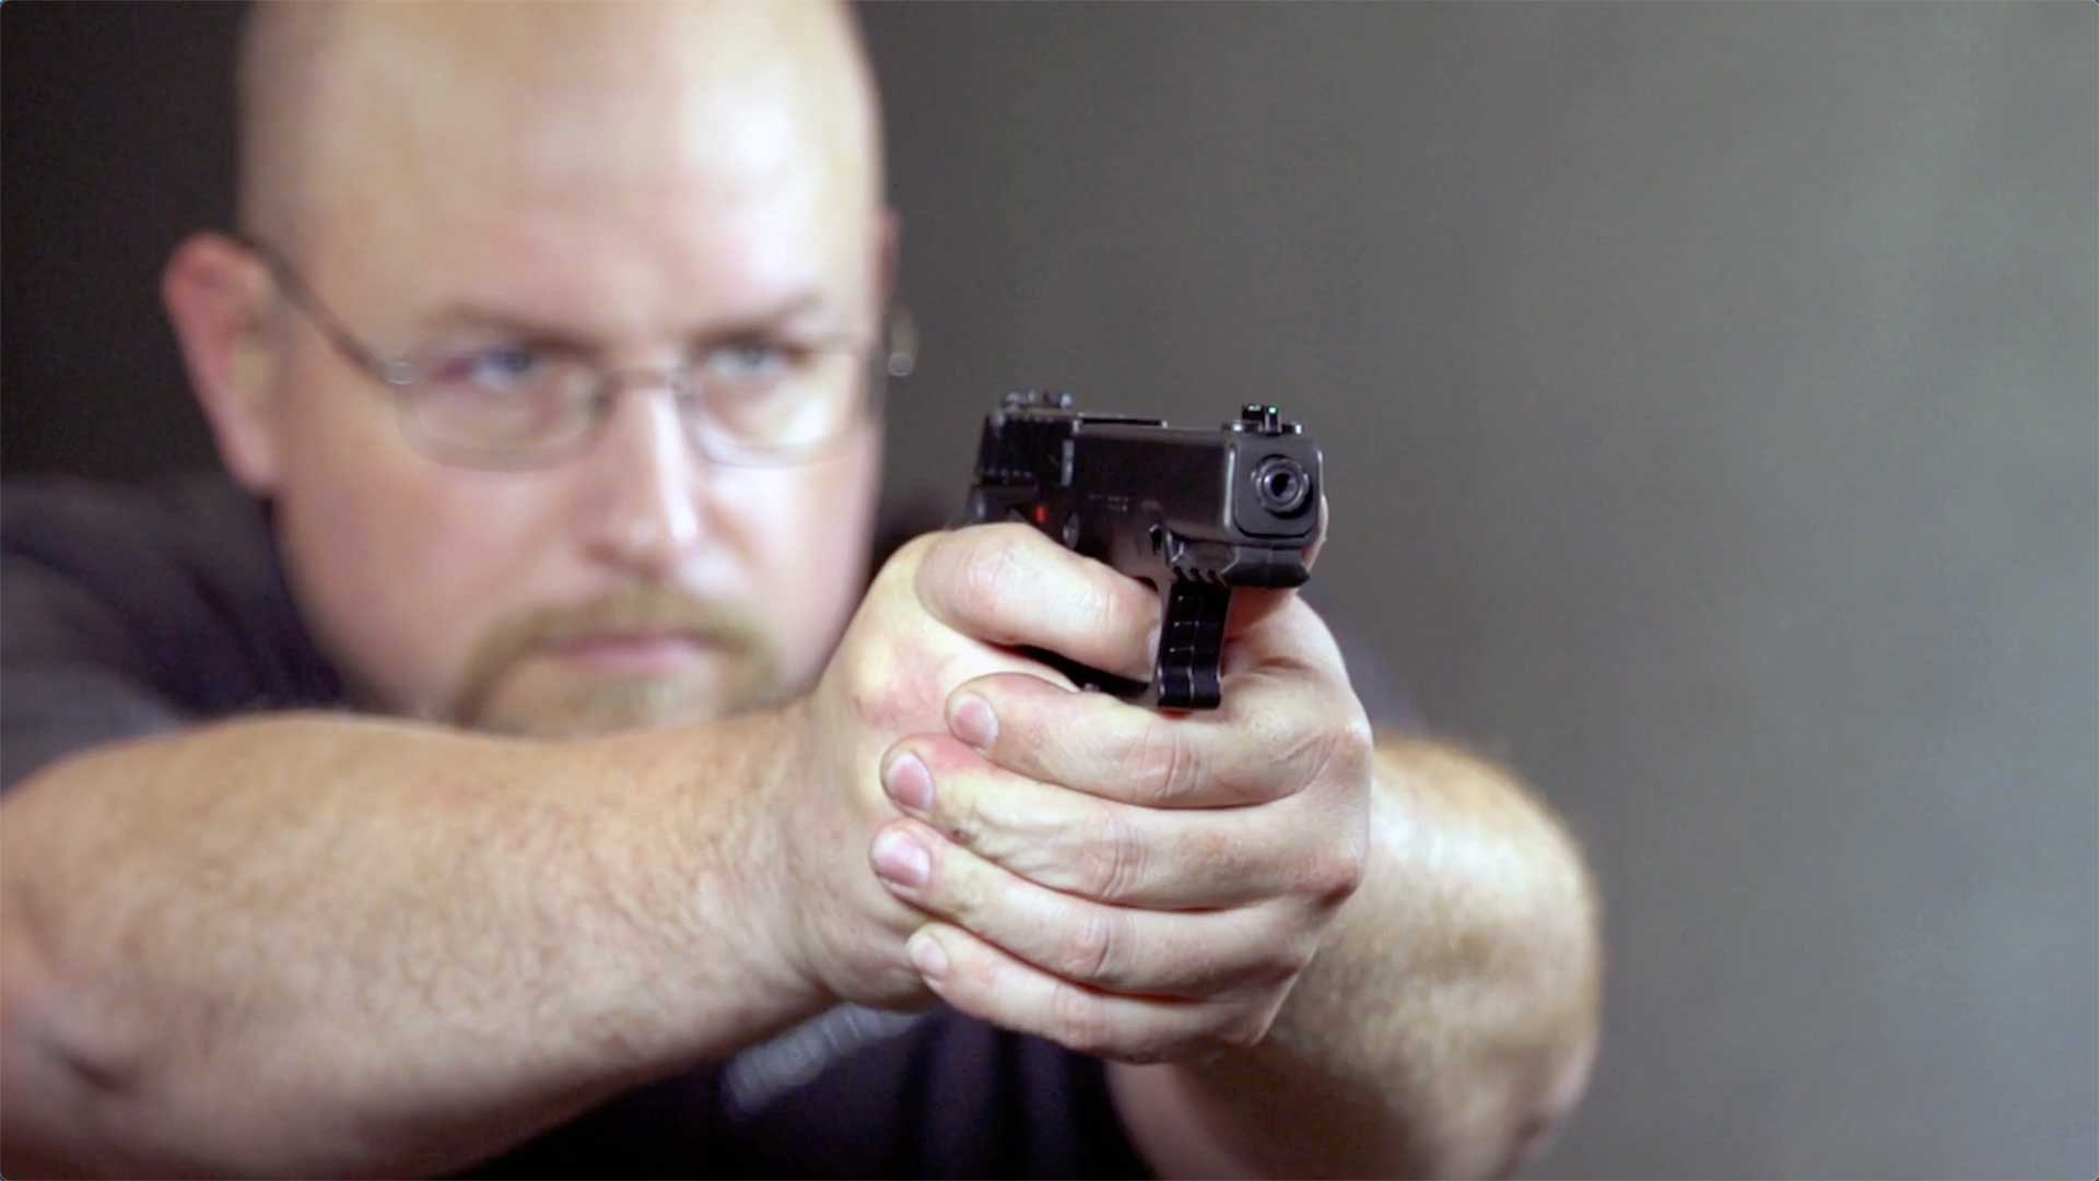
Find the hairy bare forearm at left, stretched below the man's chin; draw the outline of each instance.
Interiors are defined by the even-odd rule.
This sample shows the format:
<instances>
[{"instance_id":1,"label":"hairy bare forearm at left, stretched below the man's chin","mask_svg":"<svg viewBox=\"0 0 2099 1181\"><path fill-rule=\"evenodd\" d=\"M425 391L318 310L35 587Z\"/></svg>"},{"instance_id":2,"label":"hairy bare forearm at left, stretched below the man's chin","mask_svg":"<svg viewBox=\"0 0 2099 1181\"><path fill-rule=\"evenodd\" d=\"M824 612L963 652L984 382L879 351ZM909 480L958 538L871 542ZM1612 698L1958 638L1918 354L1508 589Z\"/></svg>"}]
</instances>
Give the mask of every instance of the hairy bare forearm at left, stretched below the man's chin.
<instances>
[{"instance_id":1,"label":"hairy bare forearm at left, stretched below the man's chin","mask_svg":"<svg viewBox=\"0 0 2099 1181\"><path fill-rule=\"evenodd\" d=\"M437 1171L810 1011L749 879L766 726L281 717L25 782L8 1171Z\"/></svg>"}]
</instances>

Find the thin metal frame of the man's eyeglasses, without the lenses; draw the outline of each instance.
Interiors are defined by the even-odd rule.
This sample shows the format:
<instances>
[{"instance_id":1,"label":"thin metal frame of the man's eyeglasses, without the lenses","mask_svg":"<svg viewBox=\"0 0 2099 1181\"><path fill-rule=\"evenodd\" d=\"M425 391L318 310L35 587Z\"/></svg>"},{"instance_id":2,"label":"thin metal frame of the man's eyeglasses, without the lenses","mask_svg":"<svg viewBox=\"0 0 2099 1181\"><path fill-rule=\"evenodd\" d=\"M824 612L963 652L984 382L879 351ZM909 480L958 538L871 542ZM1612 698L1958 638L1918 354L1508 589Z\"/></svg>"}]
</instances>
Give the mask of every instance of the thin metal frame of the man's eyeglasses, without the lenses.
<instances>
[{"instance_id":1,"label":"thin metal frame of the man's eyeglasses, without the lenses","mask_svg":"<svg viewBox=\"0 0 2099 1181\"><path fill-rule=\"evenodd\" d=\"M319 329L321 338L336 350L342 361L348 361L353 369L372 378L374 382L386 386L395 394L395 411L399 415L401 434L409 441L416 451L437 459L439 464L455 468L476 468L491 472L529 472L539 468L558 466L565 459L573 459L590 447L590 443L602 430L607 415L613 409L615 399L630 386L644 382L651 386L667 388L680 401L680 422L686 424L686 441L709 461L726 464L730 468L793 468L802 464L812 464L823 459L827 453L838 449L852 430L867 424L882 422L886 384L890 378L909 378L917 367L917 321L911 317L911 308L892 298L884 315L884 331L877 340L854 340L852 350L861 355L861 361L869 367L861 375L861 394L852 417L827 438L821 438L808 447L762 447L762 445L739 445L735 453L720 453L720 447L707 443L707 434L693 428L693 420L686 420L684 403L691 401L701 413L705 413L705 399L697 396L699 384L693 378L691 365L672 365L661 369L615 369L592 361L590 367L596 382L590 388L586 405L590 407L590 420L584 430L571 441L563 441L546 451L527 451L514 455L500 455L493 451L476 451L466 457L462 449L447 449L445 445L418 438L411 417L409 399L416 396L418 388L430 388L426 375L420 371L418 363L407 357L386 357L378 348L365 344L351 327L327 306L327 300L313 289L311 283L292 266L292 260L271 243L252 235L229 235L237 245L262 260L269 271L271 281L277 285L283 300L306 315L313 327ZM846 334L840 334L844 338ZM817 350L829 350L817 346ZM882 359L875 367L873 361Z\"/></svg>"}]
</instances>

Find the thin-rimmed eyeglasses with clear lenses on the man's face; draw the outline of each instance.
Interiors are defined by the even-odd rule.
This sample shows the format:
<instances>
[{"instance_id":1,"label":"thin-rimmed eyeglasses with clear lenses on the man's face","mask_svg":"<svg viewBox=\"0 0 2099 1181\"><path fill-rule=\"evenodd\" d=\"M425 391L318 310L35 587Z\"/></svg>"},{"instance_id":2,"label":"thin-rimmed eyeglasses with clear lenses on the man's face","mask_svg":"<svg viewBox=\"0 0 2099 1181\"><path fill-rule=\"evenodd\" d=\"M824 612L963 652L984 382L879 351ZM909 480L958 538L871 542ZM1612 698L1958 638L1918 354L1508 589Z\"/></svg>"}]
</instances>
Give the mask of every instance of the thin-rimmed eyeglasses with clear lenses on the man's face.
<instances>
[{"instance_id":1,"label":"thin-rimmed eyeglasses with clear lenses on the man's face","mask_svg":"<svg viewBox=\"0 0 2099 1181\"><path fill-rule=\"evenodd\" d=\"M384 357L342 325L283 254L254 239L243 245L344 361L395 394L409 443L466 468L539 468L575 455L621 390L651 384L676 394L686 438L707 459L739 468L806 464L879 420L886 380L909 375L917 363L917 331L903 304L890 306L877 342L749 334L672 369L611 369L575 346L516 338L453 340Z\"/></svg>"}]
</instances>

